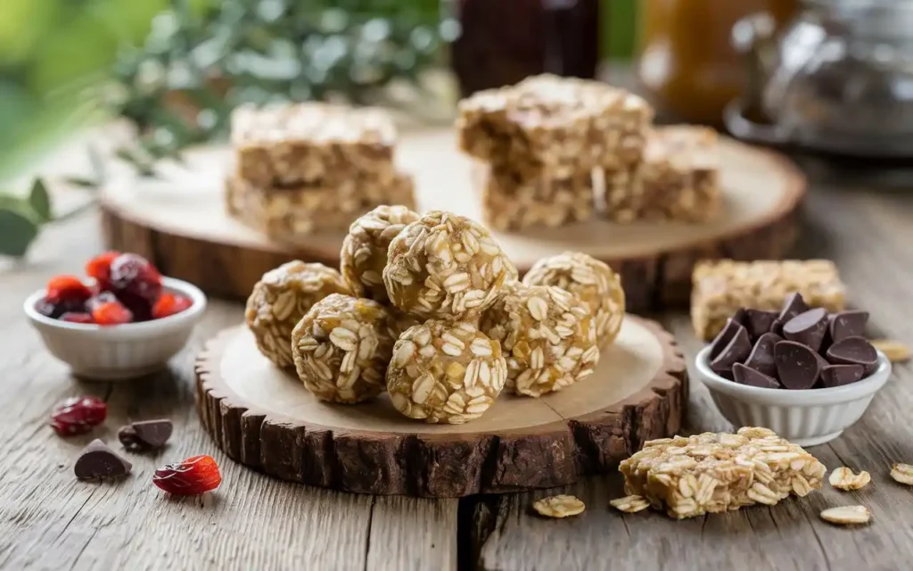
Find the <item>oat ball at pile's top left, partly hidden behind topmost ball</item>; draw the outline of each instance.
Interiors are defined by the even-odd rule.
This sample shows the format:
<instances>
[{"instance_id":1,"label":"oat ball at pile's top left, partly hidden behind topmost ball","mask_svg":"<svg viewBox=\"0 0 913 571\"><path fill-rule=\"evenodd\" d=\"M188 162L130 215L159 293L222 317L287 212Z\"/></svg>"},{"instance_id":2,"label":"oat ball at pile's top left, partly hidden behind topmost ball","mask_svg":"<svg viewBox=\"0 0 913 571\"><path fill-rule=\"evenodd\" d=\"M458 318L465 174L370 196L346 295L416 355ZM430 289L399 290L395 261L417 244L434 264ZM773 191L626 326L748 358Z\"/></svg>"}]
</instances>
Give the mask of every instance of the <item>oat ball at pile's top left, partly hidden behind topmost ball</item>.
<instances>
[{"instance_id":1,"label":"oat ball at pile's top left, partly hidden behind topmost ball","mask_svg":"<svg viewBox=\"0 0 913 571\"><path fill-rule=\"evenodd\" d=\"M383 285L387 248L406 224L418 219L418 214L406 206L377 206L352 222L349 235L342 241L340 269L355 295L390 302Z\"/></svg>"}]
</instances>

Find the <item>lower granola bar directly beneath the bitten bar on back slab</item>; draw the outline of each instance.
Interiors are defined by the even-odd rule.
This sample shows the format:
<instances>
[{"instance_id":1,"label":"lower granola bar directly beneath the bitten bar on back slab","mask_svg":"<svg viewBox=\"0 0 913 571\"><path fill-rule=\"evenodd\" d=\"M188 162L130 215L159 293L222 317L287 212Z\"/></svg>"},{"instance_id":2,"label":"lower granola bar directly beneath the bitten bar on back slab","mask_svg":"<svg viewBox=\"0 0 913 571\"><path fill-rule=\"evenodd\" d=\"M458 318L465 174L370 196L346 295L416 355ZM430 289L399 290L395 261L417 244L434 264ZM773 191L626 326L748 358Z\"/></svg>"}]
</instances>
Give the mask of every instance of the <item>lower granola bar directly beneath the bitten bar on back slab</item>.
<instances>
[{"instance_id":1,"label":"lower granola bar directly beneath the bitten bar on back slab","mask_svg":"<svg viewBox=\"0 0 913 571\"><path fill-rule=\"evenodd\" d=\"M500 231L558 227L593 216L593 177L539 177L524 181L509 171L489 170L482 187L482 216Z\"/></svg>"}]
</instances>

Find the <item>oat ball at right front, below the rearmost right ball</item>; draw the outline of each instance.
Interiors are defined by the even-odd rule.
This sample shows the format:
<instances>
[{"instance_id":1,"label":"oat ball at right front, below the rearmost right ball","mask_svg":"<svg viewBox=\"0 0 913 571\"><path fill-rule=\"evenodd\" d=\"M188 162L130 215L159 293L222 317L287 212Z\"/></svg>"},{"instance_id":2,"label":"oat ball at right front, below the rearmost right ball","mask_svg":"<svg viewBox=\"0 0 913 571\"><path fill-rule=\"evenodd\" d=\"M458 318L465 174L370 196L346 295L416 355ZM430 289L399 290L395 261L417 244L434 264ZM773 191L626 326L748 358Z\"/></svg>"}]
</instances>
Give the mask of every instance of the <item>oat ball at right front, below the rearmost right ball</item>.
<instances>
[{"instance_id":1,"label":"oat ball at right front, below the rearmost right ball","mask_svg":"<svg viewBox=\"0 0 913 571\"><path fill-rule=\"evenodd\" d=\"M509 287L482 316L481 330L501 342L508 385L519 395L560 390L599 363L590 309L554 286Z\"/></svg>"}]
</instances>

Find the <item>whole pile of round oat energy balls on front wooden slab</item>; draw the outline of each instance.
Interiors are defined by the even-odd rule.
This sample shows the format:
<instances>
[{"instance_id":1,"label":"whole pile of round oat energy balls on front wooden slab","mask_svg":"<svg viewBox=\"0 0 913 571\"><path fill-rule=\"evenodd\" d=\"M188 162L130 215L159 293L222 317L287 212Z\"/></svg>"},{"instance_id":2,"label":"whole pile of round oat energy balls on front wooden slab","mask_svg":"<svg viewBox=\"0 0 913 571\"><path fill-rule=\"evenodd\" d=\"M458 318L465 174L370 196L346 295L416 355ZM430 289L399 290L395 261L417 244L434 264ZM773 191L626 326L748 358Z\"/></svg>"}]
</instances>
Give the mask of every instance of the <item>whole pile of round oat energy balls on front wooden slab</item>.
<instances>
[{"instance_id":1,"label":"whole pile of round oat energy balls on front wooden slab","mask_svg":"<svg viewBox=\"0 0 913 571\"><path fill-rule=\"evenodd\" d=\"M565 252L519 281L485 227L405 206L352 223L341 271L293 261L267 272L246 312L260 351L320 400L387 390L406 417L451 424L479 418L505 386L541 397L591 375L623 316L603 262Z\"/></svg>"}]
</instances>

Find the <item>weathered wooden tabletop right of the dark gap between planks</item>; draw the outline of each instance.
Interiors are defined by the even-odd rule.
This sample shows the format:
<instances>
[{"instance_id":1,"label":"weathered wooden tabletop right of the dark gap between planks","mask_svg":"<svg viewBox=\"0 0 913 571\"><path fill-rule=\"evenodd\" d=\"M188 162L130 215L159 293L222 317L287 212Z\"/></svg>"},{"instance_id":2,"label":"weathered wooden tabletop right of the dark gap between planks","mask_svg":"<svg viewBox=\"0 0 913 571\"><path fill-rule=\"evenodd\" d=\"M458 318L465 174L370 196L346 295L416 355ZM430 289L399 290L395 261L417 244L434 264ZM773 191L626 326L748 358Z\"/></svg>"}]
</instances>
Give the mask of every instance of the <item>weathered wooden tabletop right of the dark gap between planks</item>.
<instances>
[{"instance_id":1,"label":"weathered wooden tabletop right of the dark gap between planks","mask_svg":"<svg viewBox=\"0 0 913 571\"><path fill-rule=\"evenodd\" d=\"M803 258L834 259L851 305L871 312L869 333L907 344L913 341L913 322L904 309L913 287L910 219L913 195L839 188L829 181L813 187L796 252ZM687 316L668 314L662 322L686 354L693 356L703 346ZM622 514L608 507L609 500L624 495L617 473L563 489L587 504L585 513L567 521L530 513L535 499L562 490L500 496L475 506L477 520L490 520L475 533L478 568L907 569L913 557L913 491L891 480L888 471L893 462L913 460L911 403L913 369L896 364L893 377L858 423L839 439L810 449L829 470L848 466L869 471L872 482L862 490L839 492L825 483L821 492L774 507L682 522L661 513ZM698 380L691 384L688 411L688 432L732 429ZM842 528L818 517L824 508L851 504L866 505L873 523Z\"/></svg>"}]
</instances>

